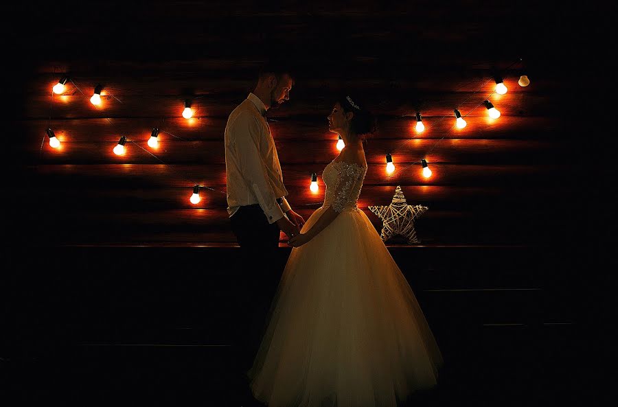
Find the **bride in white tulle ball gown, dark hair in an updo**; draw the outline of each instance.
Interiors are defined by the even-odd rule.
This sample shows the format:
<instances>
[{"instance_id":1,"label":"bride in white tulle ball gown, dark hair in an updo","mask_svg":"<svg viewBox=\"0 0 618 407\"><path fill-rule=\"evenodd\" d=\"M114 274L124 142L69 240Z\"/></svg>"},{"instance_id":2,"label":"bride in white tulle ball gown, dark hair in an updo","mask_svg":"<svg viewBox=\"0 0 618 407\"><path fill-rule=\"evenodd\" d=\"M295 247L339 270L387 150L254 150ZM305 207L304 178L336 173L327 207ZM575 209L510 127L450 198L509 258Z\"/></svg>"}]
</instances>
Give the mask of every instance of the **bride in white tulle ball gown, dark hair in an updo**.
<instances>
[{"instance_id":1,"label":"bride in white tulle ball gown, dark hair in an updo","mask_svg":"<svg viewBox=\"0 0 618 407\"><path fill-rule=\"evenodd\" d=\"M248 376L271 407L395 407L436 384L442 356L415 296L356 207L373 119L349 96L328 115L345 148L294 246Z\"/></svg>"}]
</instances>

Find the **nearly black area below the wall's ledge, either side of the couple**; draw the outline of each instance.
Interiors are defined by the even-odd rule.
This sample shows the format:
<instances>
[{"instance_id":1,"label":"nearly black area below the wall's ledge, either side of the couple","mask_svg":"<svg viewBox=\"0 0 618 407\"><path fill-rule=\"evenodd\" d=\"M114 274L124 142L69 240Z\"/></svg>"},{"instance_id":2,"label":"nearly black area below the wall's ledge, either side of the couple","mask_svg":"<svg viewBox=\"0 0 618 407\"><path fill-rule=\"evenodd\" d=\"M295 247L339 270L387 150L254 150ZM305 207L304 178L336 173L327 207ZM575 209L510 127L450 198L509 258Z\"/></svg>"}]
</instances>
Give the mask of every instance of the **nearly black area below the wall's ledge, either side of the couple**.
<instances>
[{"instance_id":1,"label":"nearly black area below the wall's ledge, either side of the couple","mask_svg":"<svg viewBox=\"0 0 618 407\"><path fill-rule=\"evenodd\" d=\"M14 400L7 406L245 405L236 401L242 383L226 329L233 316L225 297L233 284L221 281L232 277L229 272L203 277L199 270L169 268L126 274L130 264L113 270L71 253L22 259L26 265L11 280L0 354L2 394ZM409 251L391 253L409 277L445 360L438 386L403 406L569 405L575 322L569 310L556 306L564 290L530 275L538 270L514 272L527 252L508 256L500 279L491 276L499 272L496 261L506 258L504 249L480 254L493 268L487 274L479 274L478 265L462 266L474 263L461 260L479 256L476 249L452 255L458 260L446 266L457 263L453 269L459 271L450 275L433 260L444 256L413 252L415 270L438 273L437 279L418 277L421 272L409 276ZM212 252L205 255L216 264ZM140 256L133 257L144 261ZM59 259L64 270L43 267L58 266Z\"/></svg>"}]
</instances>

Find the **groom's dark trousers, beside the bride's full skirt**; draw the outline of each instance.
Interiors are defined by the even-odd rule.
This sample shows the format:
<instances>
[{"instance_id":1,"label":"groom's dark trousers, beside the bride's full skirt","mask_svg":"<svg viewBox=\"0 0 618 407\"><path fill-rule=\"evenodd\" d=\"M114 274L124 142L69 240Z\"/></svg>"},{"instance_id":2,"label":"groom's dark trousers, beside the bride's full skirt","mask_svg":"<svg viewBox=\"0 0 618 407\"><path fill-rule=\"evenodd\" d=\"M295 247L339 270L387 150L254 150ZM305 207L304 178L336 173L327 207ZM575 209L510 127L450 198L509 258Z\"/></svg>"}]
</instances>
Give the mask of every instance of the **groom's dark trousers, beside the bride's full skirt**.
<instances>
[{"instance_id":1,"label":"groom's dark trousers, beside the bride's full skirt","mask_svg":"<svg viewBox=\"0 0 618 407\"><path fill-rule=\"evenodd\" d=\"M234 309L233 345L239 368L248 370L264 336L268 311L282 270L278 259L279 226L269 224L260 205L240 207L230 218L240 245L236 270L238 296ZM240 260L240 261L238 261Z\"/></svg>"}]
</instances>

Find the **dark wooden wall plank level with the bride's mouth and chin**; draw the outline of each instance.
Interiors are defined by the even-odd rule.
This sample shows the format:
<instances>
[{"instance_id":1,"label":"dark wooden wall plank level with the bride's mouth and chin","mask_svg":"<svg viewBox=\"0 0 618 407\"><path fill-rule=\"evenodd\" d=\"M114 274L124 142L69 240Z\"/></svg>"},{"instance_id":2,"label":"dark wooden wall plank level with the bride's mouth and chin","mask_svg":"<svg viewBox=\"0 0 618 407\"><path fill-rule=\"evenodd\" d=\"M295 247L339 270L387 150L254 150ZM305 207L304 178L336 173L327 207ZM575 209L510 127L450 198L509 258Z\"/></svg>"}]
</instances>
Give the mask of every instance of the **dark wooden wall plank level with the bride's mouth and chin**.
<instances>
[{"instance_id":1,"label":"dark wooden wall plank level with the bride's mouth and chin","mask_svg":"<svg viewBox=\"0 0 618 407\"><path fill-rule=\"evenodd\" d=\"M273 132L275 142L294 140L336 140L336 134L328 131L326 113L313 115L312 117L271 118L268 126ZM372 144L377 139L402 139L413 137L415 139L553 139L562 141L566 137L558 132L563 123L551 117L508 117L501 116L492 121L485 117L477 119L468 118L469 125L463 129L453 128L453 119L450 115L423 116L426 126L420 135L414 130L416 119L413 117L402 118L378 118L378 130L371 136L366 150L373 150ZM111 123L110 123L111 121ZM202 117L195 120L183 118L172 119L63 119L52 121L51 127L56 132L60 141L113 141L118 142L120 135L127 135L129 139L141 139L147 141L153 127L159 127L161 141L174 140L172 136L181 139L198 140L223 140L225 131L225 118ZM19 144L33 144L41 146L41 139L45 135L45 129L50 126L49 120L26 120L17 123L21 126L23 134L14 140ZM165 131L172 135L166 134ZM177 139L176 139L177 140ZM557 146L560 146L558 143ZM285 153L284 151L281 151Z\"/></svg>"}]
</instances>

